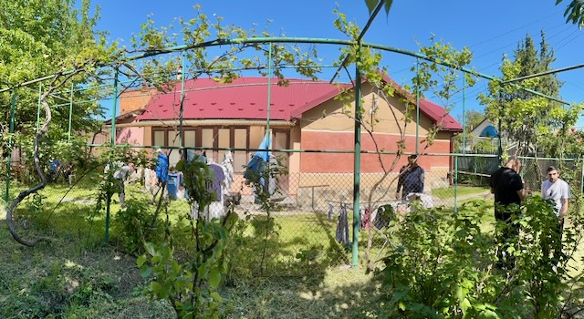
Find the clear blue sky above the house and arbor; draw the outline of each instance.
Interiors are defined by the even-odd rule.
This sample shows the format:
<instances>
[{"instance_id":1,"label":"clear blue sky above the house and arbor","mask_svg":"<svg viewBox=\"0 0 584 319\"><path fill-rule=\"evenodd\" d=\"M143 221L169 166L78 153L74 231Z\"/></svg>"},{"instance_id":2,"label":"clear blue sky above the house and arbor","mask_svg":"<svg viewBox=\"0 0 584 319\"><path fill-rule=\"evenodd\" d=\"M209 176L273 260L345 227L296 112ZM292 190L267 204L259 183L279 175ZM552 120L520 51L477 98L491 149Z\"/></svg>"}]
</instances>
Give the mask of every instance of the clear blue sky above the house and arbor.
<instances>
[{"instance_id":1,"label":"clear blue sky above the house and arbor","mask_svg":"<svg viewBox=\"0 0 584 319\"><path fill-rule=\"evenodd\" d=\"M435 35L454 48L467 46L474 53L471 67L477 71L498 76L498 67L504 54L513 56L517 43L526 35L533 37L537 46L540 32L546 32L547 43L555 51L553 68L584 64L584 35L577 26L566 24L563 16L569 0L555 5L556 0L514 0L514 1L468 1L468 0L394 0L389 15L380 13L367 32L364 40L384 46L392 46L410 51L418 51L417 42L430 45L429 38ZM249 29L265 26L274 35L298 37L321 37L346 39L333 25L333 10L347 15L349 21L363 27L369 18L364 0L296 0L274 2L264 0L234 1L154 1L154 0L99 0L93 5L100 6L98 28L110 31L110 40L119 40L130 45L130 37L141 30L147 15L158 26L173 24L174 17L191 18L195 15L193 5L202 5L206 15L224 17L225 24L233 24ZM267 25L267 21L271 23ZM176 25L176 24L175 24ZM339 57L337 47L318 46L324 58L323 64L332 64ZM381 61L388 67L390 76L400 83L410 81L412 57L386 54ZM564 81L561 98L569 103L584 101L584 67L558 74ZM329 76L323 78L330 79ZM340 80L347 81L343 75ZM482 109L476 102L476 95L485 92L487 82L478 81L475 87L466 90L466 109ZM428 97L433 99L432 97ZM433 99L434 100L434 99ZM439 102L434 100L435 102ZM462 114L462 96L452 110L455 118ZM580 120L579 127L584 127Z\"/></svg>"}]
</instances>

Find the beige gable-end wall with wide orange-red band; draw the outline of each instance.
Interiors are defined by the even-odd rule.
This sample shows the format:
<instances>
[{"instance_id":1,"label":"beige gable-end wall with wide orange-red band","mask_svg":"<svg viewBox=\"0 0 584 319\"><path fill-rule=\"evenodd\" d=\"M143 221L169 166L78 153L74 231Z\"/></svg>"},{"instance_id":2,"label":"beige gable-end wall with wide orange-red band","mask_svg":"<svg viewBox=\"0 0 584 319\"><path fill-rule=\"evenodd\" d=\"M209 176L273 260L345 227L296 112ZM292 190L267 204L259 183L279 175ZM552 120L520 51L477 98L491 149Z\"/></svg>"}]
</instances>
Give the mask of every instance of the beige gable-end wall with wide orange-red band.
<instances>
[{"instance_id":1,"label":"beige gable-end wall with wide orange-red band","mask_svg":"<svg viewBox=\"0 0 584 319\"><path fill-rule=\"evenodd\" d=\"M381 98L376 88L370 85L363 86L363 122L370 129L374 139L367 129L361 128L361 150L397 151L397 142L401 139L401 130L404 128L403 113L405 106L400 98ZM371 111L373 106L374 112ZM347 116L347 113L349 116ZM323 116L324 115L324 116ZM300 142L302 149L352 150L354 149L355 122L354 103L350 107L342 108L339 100L331 99L317 108L308 110L300 120L302 129ZM435 136L432 146L425 142L429 129L433 128L433 120L420 114L420 127L416 124L416 114L412 112L412 122L405 126L405 152L447 154L450 153L453 132L441 131ZM398 126L401 126L400 127ZM417 131L416 131L417 130ZM417 135L416 135L417 133ZM291 136L297 139L297 135ZM298 142L299 143L299 142ZM417 145L417 148L416 148ZM300 170L290 170L290 175L297 174L299 192L310 190L321 185L329 185L328 190L350 189L353 181L353 154L341 153L301 153ZM395 164L394 155L381 156L384 168L381 168L380 159L376 154L361 154L360 156L360 187L368 192L373 184L381 180L383 170L391 170L390 175L381 183L380 190L391 190L393 195L398 171L407 163L406 156L402 156ZM451 158L446 155L422 155L419 164L426 170L426 190L448 185L448 172L451 167ZM393 181L392 181L393 180Z\"/></svg>"}]
</instances>

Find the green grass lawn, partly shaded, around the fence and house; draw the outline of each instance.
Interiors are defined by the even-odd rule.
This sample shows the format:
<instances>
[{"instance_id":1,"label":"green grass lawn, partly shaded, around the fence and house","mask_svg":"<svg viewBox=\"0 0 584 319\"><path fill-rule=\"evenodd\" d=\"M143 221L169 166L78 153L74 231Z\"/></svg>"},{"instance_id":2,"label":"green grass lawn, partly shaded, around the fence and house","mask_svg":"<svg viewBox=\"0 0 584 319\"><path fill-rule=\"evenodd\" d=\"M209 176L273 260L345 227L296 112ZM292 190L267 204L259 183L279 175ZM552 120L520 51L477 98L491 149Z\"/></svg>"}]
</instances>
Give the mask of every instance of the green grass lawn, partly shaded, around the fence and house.
<instances>
[{"instance_id":1,"label":"green grass lawn, partly shaded, around the fence and house","mask_svg":"<svg viewBox=\"0 0 584 319\"><path fill-rule=\"evenodd\" d=\"M17 244L9 232L0 232L0 317L174 317L169 304L151 302L141 295L148 280L140 276L135 257L116 246L120 242L115 220L120 211L117 195L111 206L110 244L104 243L104 212L90 217L97 195L92 190L93 182L70 190L67 185L51 184L41 191L40 205L32 198L21 204L15 213L18 232L28 240L42 236L50 242L28 248ZM13 190L14 197L22 188ZM140 190L130 186L128 199L146 199ZM434 191L436 197L449 198L449 191L454 190ZM486 191L461 187L457 195ZM243 211L249 207L240 209L245 219ZM485 210L492 211L492 203L487 201ZM187 246L193 242L185 220L188 204L171 201L167 211L174 225L175 244L188 251ZM347 212L352 240L352 211ZM159 218L165 216L166 211L162 211ZM360 264L353 269L350 247L336 239L338 212L331 220L326 213L312 211L276 215L276 234L268 241L260 222L266 217L259 215L255 220L242 223L242 240L233 247L238 254L231 262L239 268L221 288L225 318L352 318L376 314L379 286L362 265L368 231L360 232ZM493 232L493 225L494 218L487 213L481 228ZM385 238L371 232L370 256L375 258ZM258 277L264 251L265 272ZM576 252L575 262L582 251L580 248Z\"/></svg>"}]
</instances>

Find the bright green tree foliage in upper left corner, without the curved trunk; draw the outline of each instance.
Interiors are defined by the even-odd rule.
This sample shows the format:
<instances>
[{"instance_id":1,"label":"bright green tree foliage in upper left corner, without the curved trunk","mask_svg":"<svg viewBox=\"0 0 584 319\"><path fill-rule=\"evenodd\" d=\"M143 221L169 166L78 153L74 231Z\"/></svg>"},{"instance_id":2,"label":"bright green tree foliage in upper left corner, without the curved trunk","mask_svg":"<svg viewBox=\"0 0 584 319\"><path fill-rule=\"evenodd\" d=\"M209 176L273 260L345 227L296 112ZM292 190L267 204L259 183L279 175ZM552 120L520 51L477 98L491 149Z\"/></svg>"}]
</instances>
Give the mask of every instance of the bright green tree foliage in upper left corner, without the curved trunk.
<instances>
[{"instance_id":1,"label":"bright green tree foliage in upper left corner, without the curved trunk","mask_svg":"<svg viewBox=\"0 0 584 319\"><path fill-rule=\"evenodd\" d=\"M83 65L94 64L107 46L95 30L99 7L95 15L89 15L89 0L83 0L80 7L74 7L70 0L0 0L3 8L0 13L0 83L3 89L17 87L20 83L59 72L72 70ZM94 91L75 91L90 81L87 75L70 77L68 83L55 89L47 97L52 107L54 139L63 138L68 133L70 98L90 100L95 98ZM40 87L43 90L50 89ZM38 106L38 86L17 90L15 131L28 137L36 129L36 108ZM2 123L8 123L10 116L10 94L0 94ZM101 109L95 103L76 103L74 105L71 127L74 131L87 131L95 128L95 118ZM5 134L7 127L0 127Z\"/></svg>"}]
</instances>

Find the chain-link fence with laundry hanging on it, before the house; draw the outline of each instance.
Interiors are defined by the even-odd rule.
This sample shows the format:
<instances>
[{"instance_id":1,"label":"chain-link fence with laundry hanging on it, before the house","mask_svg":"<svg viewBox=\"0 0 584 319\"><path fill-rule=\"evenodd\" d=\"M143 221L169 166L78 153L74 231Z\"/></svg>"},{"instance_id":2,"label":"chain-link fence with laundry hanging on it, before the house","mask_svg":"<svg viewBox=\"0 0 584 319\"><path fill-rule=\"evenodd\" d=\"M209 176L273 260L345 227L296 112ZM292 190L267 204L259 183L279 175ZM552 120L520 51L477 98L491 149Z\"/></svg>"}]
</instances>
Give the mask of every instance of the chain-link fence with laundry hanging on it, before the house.
<instances>
[{"instance_id":1,"label":"chain-link fence with laundry hanging on it, before the house","mask_svg":"<svg viewBox=\"0 0 584 319\"><path fill-rule=\"evenodd\" d=\"M155 158L155 149L143 150L151 159ZM201 149L195 151L203 153ZM249 154L245 156L246 161L251 159L253 151L254 149L245 151L245 154ZM188 192L185 192L182 172L174 169L178 158L172 155L173 152L178 153L176 150L170 152L168 181L163 191L159 190L161 185L158 184L153 166L137 165L125 181L124 195L126 201L148 203L151 211L156 210L162 196L166 210L159 216L168 213L174 220L188 219L192 211L186 201ZM405 197L402 195L404 190L397 192L403 161L397 162L400 165L387 168L385 173L362 172L358 180L352 172L288 171L287 175L276 176L266 183L266 188L270 190L268 201L273 208L268 218L253 188L246 183L245 168L234 165L233 159L239 158L240 152L244 151L235 150L232 153L225 149L206 149L207 154L219 154L210 155L208 158L212 160L207 161L208 165L217 166L224 172L214 175L222 189L217 197L218 201L208 214L214 217L223 216L228 210L228 199L236 197L238 204L235 212L240 219L245 220L238 250L249 257L239 262L257 262L260 255L266 254L269 260L266 273L276 275L302 275L302 272L318 269L309 267L314 262L326 266L350 264L355 229L360 232L360 262L365 258L363 252L368 249L369 256L379 257L389 241L382 232L387 223L381 220L381 214L378 213L380 208L387 208L389 205L393 211L406 216L407 211L415 206L414 201L419 201L425 208L443 207L444 210L452 211L464 201L492 201L488 187L489 176L498 167L497 158L490 155L421 155L418 162L424 170L423 190ZM225 160L228 158L226 154L231 157L231 162ZM347 156L353 155L348 153ZM395 155L383 157L393 160ZM436 166L435 163L448 165ZM526 158L523 163L521 174L531 190L539 190L549 165L561 168L562 177L570 182L574 190L580 188L582 167L575 160ZM30 162L24 159L15 158L12 162L6 188L9 191L8 201L14 199L19 191L36 185L35 172L29 165ZM99 183L103 180L102 166L84 167L67 160L50 159L44 163L43 170L47 176L47 187L28 196L13 215L19 232L28 232L33 220L42 222L35 232L51 232L56 222L67 224L68 228L77 228L78 232L68 235L78 241L89 236L83 230L104 230L106 216L103 211L96 211ZM8 177L6 174L3 176ZM356 182L360 190L358 203L355 202L354 195ZM359 210L357 214L354 213L356 207ZM109 211L115 216L121 209L120 195L114 193ZM357 228L355 217L360 218ZM273 221L270 226L273 232L269 236L262 229L267 227L268 219ZM111 222L111 232L115 235L115 218ZM370 242L368 236L372 237ZM251 258L254 255L257 258ZM308 267L297 267L298 263Z\"/></svg>"}]
</instances>

